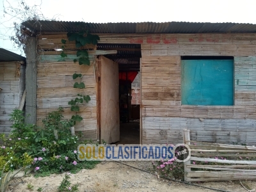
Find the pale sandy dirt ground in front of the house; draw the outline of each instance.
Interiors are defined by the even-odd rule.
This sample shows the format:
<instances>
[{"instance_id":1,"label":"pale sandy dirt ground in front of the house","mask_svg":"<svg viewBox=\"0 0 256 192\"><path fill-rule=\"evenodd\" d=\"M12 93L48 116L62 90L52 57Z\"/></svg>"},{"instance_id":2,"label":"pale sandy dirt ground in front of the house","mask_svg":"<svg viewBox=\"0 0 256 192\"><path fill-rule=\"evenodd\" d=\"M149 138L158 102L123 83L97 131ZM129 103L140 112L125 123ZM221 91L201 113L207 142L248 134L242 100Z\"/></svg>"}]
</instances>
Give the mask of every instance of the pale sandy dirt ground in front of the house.
<instances>
[{"instance_id":1,"label":"pale sandy dirt ground in front of the house","mask_svg":"<svg viewBox=\"0 0 256 192\"><path fill-rule=\"evenodd\" d=\"M143 168L138 162L124 162L127 165ZM12 191L29 191L28 184L34 186L36 191L43 188L43 191L57 191L64 174L51 175L49 177L35 178L33 175L23 177L23 183L20 183ZM179 182L157 179L156 175L142 172L135 168L122 165L117 162L102 162L93 170L81 170L79 173L70 176L72 184L79 184L79 191L97 192L97 191L184 191L184 192L201 192L214 191L211 189L200 188L180 184ZM239 182L201 182L196 183L211 188L223 189L228 191L246 191ZM248 186L256 189L256 182L248 182Z\"/></svg>"}]
</instances>

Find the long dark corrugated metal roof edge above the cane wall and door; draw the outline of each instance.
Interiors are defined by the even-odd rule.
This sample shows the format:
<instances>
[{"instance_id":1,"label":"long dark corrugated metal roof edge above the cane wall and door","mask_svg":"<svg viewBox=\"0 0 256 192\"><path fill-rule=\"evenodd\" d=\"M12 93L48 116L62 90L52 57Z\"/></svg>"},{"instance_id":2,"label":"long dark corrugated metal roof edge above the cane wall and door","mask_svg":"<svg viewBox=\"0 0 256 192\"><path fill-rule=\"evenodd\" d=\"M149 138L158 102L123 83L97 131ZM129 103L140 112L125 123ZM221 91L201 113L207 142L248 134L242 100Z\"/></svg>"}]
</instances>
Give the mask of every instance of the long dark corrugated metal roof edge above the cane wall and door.
<instances>
[{"instance_id":1,"label":"long dark corrugated metal roof edge above the cane wall and door","mask_svg":"<svg viewBox=\"0 0 256 192\"><path fill-rule=\"evenodd\" d=\"M90 33L256 33L256 24L199 23L199 22L138 22L138 23L86 23L54 20L28 20L22 23L28 29L51 32Z\"/></svg>"}]
</instances>

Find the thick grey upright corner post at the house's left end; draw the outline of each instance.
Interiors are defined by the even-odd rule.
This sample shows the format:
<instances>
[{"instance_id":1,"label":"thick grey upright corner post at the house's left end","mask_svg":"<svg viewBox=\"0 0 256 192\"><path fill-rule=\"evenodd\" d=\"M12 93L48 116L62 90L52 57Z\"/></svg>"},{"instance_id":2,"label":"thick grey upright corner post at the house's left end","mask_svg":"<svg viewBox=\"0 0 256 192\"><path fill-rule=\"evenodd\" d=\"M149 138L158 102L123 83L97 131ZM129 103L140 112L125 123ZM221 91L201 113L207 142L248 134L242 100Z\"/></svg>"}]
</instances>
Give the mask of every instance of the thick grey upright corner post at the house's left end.
<instances>
[{"instance_id":1,"label":"thick grey upright corner post at the house's left end","mask_svg":"<svg viewBox=\"0 0 256 192\"><path fill-rule=\"evenodd\" d=\"M25 122L36 124L36 89L37 89L37 65L36 65L36 37L28 38L26 45L26 110Z\"/></svg>"}]
</instances>

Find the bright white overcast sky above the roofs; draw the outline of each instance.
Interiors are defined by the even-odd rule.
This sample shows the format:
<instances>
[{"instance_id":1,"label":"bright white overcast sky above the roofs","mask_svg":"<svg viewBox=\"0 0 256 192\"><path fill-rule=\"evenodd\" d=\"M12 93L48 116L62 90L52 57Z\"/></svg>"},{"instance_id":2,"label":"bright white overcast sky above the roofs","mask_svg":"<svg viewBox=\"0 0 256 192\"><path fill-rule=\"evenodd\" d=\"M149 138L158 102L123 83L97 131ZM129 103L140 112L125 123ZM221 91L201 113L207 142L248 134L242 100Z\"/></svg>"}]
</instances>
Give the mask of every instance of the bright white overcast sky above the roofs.
<instances>
[{"instance_id":1,"label":"bright white overcast sky above the roofs","mask_svg":"<svg viewBox=\"0 0 256 192\"><path fill-rule=\"evenodd\" d=\"M5 38L12 35L13 21L18 18L3 17L0 0L0 33ZM13 6L17 1L8 0ZM25 0L29 6L40 0ZM72 3L72 4L71 4ZM256 24L256 0L42 0L42 13L46 18L84 22L236 22ZM56 17L57 15L57 17ZM7 22L7 20L9 20ZM0 47L17 54L19 50L10 40L1 40ZM1 55L0 55L1 57Z\"/></svg>"}]
</instances>

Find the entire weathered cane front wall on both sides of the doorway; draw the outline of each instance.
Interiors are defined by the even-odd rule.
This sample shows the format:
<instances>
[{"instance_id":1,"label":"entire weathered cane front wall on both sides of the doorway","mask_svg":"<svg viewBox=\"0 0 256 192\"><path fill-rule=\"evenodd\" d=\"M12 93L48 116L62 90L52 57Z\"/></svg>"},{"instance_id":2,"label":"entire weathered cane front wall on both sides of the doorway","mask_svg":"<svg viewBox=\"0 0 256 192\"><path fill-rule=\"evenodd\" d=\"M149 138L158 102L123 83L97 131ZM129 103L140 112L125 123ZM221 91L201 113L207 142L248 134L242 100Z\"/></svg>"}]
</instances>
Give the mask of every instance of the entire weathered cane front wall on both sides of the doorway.
<instances>
[{"instance_id":1,"label":"entire weathered cane front wall on both sides of the doorway","mask_svg":"<svg viewBox=\"0 0 256 192\"><path fill-rule=\"evenodd\" d=\"M141 102L143 144L182 142L182 129L191 129L191 139L205 142L243 142L255 144L256 138L256 36L255 34L99 34L99 43L141 44ZM38 124L58 105L65 107L76 96L72 88L74 69L86 73L86 89L92 101L84 107L84 122L76 130L95 138L97 103L92 66L81 68L56 62L53 48L61 47L65 34L38 36ZM74 50L75 45L67 45ZM88 48L88 47L87 47ZM59 54L59 53L58 53ZM181 105L180 56L234 56L234 106ZM55 58L55 60L52 60ZM72 70L70 70L72 69Z\"/></svg>"}]
</instances>

